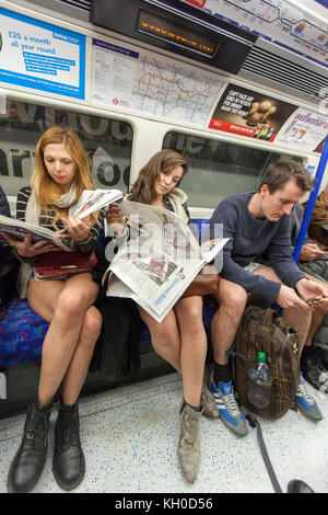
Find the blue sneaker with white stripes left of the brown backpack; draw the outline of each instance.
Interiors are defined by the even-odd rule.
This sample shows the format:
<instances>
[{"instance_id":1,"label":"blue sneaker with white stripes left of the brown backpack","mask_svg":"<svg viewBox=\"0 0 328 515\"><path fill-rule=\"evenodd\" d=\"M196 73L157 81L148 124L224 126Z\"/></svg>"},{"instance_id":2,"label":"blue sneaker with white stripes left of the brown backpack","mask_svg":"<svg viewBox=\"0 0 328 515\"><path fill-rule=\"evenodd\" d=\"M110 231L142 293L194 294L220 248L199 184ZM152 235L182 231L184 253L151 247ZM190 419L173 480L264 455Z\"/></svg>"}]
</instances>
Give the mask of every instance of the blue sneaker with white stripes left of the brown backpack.
<instances>
[{"instance_id":1,"label":"blue sneaker with white stripes left of the brown backpack","mask_svg":"<svg viewBox=\"0 0 328 515\"><path fill-rule=\"evenodd\" d=\"M215 386L212 371L209 378L209 389L214 397L219 416L221 416L224 424L238 436L247 435L248 424L234 397L232 381L219 381L219 385Z\"/></svg>"}]
</instances>

